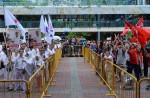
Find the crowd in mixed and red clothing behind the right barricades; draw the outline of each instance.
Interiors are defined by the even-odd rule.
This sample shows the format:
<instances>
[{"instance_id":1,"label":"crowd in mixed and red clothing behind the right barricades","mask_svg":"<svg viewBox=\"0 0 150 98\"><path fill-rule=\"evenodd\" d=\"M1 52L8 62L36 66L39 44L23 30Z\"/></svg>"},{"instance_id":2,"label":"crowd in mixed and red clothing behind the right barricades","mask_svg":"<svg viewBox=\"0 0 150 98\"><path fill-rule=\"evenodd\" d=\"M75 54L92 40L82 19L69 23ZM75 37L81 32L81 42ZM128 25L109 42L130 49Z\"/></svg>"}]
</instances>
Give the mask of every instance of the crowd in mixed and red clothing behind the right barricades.
<instances>
[{"instance_id":1,"label":"crowd in mixed and red clothing behind the right barricades","mask_svg":"<svg viewBox=\"0 0 150 98\"><path fill-rule=\"evenodd\" d=\"M115 40L86 41L84 46L100 54L104 59L110 60L128 73L135 75L139 81L143 77L150 77L150 38L147 39L145 47L137 41L123 40L115 37ZM105 65L105 69L110 66ZM134 71L134 73L133 73ZM117 82L123 80L121 71L115 68ZM150 85L147 86L147 89Z\"/></svg>"}]
</instances>

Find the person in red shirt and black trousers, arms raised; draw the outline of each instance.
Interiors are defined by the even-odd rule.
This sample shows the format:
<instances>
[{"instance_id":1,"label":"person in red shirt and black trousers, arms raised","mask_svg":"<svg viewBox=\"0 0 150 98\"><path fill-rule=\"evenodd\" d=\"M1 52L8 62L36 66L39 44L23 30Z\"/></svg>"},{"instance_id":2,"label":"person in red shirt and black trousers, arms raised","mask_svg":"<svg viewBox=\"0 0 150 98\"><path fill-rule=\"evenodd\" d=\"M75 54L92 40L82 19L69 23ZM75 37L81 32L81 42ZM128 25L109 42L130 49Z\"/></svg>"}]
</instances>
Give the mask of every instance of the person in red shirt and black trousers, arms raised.
<instances>
[{"instance_id":1,"label":"person in red shirt and black trousers, arms raised","mask_svg":"<svg viewBox=\"0 0 150 98\"><path fill-rule=\"evenodd\" d=\"M139 78L140 78L140 74L139 74L140 66L139 66L139 60L138 60L139 52L140 52L140 49L136 43L133 43L130 46L130 50L128 51L128 53L130 55L130 67L131 67L130 72L132 72L132 70L134 69L134 73L135 73L137 80L139 80Z\"/></svg>"}]
</instances>

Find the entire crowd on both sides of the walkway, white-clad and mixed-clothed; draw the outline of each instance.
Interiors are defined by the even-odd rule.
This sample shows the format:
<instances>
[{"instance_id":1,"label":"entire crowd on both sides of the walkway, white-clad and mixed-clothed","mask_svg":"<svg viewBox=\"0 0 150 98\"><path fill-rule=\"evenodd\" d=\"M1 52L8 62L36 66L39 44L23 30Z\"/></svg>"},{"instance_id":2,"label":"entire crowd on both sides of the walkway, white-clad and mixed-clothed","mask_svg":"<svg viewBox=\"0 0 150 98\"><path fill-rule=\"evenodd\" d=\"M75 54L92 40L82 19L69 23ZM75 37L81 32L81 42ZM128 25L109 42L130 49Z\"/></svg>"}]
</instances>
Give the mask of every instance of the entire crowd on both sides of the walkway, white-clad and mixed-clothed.
<instances>
[{"instance_id":1,"label":"entire crowd on both sides of the walkway, white-clad and mixed-clothed","mask_svg":"<svg viewBox=\"0 0 150 98\"><path fill-rule=\"evenodd\" d=\"M38 33L37 33L38 35ZM18 37L18 34L16 34ZM37 39L29 36L29 42L19 43L19 47L11 48L9 46L0 45L0 75L6 80L24 79L28 80L40 68L44 61L53 55L55 51L62 47L60 41L54 40L51 45L42 41L40 46L34 45ZM7 38L8 42L11 42ZM18 39L14 40L17 43ZM4 44L5 43L1 43ZM18 44L18 43L17 43ZM145 47L141 47L138 41L130 42L123 40L122 37L115 37L115 40L95 41L82 40L82 37L71 38L63 43L65 45L81 45L89 47L104 59L110 60L122 69L136 76L137 80L142 77L150 77L150 38L148 38ZM77 50L78 48L74 48ZM109 65L105 65L108 69ZM133 73L134 70L134 73ZM122 81L121 71L115 70L117 82ZM9 91L17 91L20 88L26 91L25 83L9 83L7 89ZM150 88L150 85L147 86Z\"/></svg>"}]
</instances>

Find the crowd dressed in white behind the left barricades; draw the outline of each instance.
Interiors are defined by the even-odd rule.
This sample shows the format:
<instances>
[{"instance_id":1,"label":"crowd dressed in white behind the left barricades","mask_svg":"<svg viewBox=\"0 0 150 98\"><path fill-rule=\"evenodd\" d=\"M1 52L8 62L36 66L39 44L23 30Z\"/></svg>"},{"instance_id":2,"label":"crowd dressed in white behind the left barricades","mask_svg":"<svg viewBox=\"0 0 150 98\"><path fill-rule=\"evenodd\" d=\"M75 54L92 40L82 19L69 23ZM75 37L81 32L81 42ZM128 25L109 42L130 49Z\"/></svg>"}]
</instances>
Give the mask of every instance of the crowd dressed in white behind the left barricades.
<instances>
[{"instance_id":1,"label":"crowd dressed in white behind the left barricades","mask_svg":"<svg viewBox=\"0 0 150 98\"><path fill-rule=\"evenodd\" d=\"M36 42L31 38L33 42ZM58 40L53 40L52 44L41 42L40 46L32 43L19 43L18 47L9 47L4 42L0 45L0 76L5 80L29 79L60 47ZM39 75L40 76L40 75ZM26 84L23 82L9 82L7 89L26 91Z\"/></svg>"}]
</instances>

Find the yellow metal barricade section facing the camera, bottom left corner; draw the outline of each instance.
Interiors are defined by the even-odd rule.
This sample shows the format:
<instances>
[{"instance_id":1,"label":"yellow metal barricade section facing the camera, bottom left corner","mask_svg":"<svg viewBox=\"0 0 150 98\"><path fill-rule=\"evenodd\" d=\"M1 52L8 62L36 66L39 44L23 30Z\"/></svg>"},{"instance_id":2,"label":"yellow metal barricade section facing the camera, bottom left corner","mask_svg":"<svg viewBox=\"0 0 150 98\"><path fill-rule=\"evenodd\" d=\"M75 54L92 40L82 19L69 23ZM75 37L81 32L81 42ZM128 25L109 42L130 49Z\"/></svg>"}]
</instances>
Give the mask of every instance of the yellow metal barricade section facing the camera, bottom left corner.
<instances>
[{"instance_id":1,"label":"yellow metal barricade section facing the camera, bottom left corner","mask_svg":"<svg viewBox=\"0 0 150 98\"><path fill-rule=\"evenodd\" d=\"M18 90L9 91L8 85L15 86L16 83L24 84L27 91L23 91L20 87ZM25 80L0 80L0 98L29 98L28 82Z\"/></svg>"}]
</instances>

